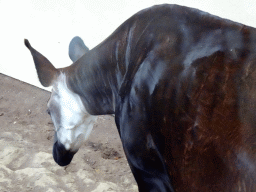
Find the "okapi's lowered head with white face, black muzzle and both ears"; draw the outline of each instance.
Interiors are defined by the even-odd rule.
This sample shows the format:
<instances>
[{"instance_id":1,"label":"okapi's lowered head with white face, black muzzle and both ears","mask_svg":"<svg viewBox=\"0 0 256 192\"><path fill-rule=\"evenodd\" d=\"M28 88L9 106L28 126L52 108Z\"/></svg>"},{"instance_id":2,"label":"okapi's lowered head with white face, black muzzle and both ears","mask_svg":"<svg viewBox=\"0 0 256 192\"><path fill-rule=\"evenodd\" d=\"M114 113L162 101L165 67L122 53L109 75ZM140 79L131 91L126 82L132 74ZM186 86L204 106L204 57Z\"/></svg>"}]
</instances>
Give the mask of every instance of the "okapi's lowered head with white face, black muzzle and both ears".
<instances>
[{"instance_id":1,"label":"okapi's lowered head with white face, black muzzle and both ears","mask_svg":"<svg viewBox=\"0 0 256 192\"><path fill-rule=\"evenodd\" d=\"M55 127L53 157L60 166L66 166L89 136L97 117L91 116L80 96L71 91L65 70L56 69L27 39L25 45L33 56L41 84L44 87L53 86L47 104L47 112ZM69 56L73 62L88 51L80 37L74 37L70 42Z\"/></svg>"}]
</instances>

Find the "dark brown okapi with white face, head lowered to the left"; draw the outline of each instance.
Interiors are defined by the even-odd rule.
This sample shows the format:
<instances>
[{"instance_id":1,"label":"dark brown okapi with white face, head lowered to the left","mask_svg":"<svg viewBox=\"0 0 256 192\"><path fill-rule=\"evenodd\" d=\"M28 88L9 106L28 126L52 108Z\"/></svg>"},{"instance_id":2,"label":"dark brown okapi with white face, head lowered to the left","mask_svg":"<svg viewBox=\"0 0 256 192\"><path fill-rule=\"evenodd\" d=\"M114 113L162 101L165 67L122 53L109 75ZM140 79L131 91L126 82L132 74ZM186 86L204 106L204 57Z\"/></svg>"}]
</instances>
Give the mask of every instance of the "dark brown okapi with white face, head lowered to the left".
<instances>
[{"instance_id":1,"label":"dark brown okapi with white face, head lowered to the left","mask_svg":"<svg viewBox=\"0 0 256 192\"><path fill-rule=\"evenodd\" d=\"M256 191L256 30L158 5L56 69L25 40L43 86L53 157L68 165L97 115L113 114L139 191Z\"/></svg>"}]
</instances>

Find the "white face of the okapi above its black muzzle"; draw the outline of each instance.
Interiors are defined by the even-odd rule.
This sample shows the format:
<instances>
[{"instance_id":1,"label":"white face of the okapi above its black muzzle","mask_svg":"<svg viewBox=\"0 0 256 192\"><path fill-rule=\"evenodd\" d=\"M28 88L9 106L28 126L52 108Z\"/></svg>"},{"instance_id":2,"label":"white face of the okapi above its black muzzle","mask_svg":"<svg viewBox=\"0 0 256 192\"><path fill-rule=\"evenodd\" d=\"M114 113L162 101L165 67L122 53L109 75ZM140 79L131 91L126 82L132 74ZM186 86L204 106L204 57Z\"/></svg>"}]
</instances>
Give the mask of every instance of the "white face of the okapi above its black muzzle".
<instances>
[{"instance_id":1,"label":"white face of the okapi above its black muzzle","mask_svg":"<svg viewBox=\"0 0 256 192\"><path fill-rule=\"evenodd\" d=\"M67 87L66 76L63 73L53 86L48 108L58 141L66 150L78 150L90 135L97 116L90 115L80 96Z\"/></svg>"}]
</instances>

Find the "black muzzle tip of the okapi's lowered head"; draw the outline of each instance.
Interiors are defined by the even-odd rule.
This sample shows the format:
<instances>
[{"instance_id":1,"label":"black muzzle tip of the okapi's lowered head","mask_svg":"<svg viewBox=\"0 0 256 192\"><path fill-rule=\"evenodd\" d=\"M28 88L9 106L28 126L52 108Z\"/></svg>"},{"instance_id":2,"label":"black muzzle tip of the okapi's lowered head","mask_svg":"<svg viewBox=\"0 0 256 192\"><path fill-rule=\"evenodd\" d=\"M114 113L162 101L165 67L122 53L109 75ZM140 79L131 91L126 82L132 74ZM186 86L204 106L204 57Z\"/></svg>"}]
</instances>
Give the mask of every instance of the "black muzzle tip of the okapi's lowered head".
<instances>
[{"instance_id":1,"label":"black muzzle tip of the okapi's lowered head","mask_svg":"<svg viewBox=\"0 0 256 192\"><path fill-rule=\"evenodd\" d=\"M53 145L53 158L55 162L60 166L68 165L72 161L76 152L67 151L64 145L59 143L58 141L56 141Z\"/></svg>"}]
</instances>

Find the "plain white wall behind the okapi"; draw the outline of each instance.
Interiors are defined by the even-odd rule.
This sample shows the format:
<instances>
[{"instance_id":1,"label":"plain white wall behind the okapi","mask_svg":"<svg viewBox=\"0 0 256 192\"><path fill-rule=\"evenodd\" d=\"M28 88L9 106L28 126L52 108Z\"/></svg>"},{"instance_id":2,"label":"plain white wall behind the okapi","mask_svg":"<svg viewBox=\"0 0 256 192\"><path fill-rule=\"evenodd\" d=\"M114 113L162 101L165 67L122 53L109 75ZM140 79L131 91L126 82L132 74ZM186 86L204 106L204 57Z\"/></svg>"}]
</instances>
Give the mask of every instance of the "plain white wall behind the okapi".
<instances>
[{"instance_id":1,"label":"plain white wall behind the okapi","mask_svg":"<svg viewBox=\"0 0 256 192\"><path fill-rule=\"evenodd\" d=\"M68 66L72 37L82 37L91 49L134 13L161 3L199 8L256 27L255 0L0 0L0 73L42 88L24 38L57 68Z\"/></svg>"}]
</instances>

